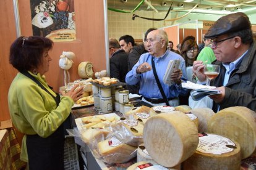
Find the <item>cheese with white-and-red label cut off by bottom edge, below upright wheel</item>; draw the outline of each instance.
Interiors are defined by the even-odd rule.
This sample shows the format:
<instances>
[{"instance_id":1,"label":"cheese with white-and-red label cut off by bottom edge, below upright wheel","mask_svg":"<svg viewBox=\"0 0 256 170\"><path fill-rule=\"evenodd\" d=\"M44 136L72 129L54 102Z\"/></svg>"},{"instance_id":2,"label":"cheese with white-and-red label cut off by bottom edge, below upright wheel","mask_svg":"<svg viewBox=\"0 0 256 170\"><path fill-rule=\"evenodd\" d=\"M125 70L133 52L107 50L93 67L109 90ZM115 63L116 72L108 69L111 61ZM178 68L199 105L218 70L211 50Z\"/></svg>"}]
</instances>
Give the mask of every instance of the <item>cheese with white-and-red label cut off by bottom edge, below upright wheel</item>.
<instances>
[{"instance_id":1,"label":"cheese with white-and-red label cut off by bottom edge, below upright wheel","mask_svg":"<svg viewBox=\"0 0 256 170\"><path fill-rule=\"evenodd\" d=\"M173 168L165 168L161 166L160 164L155 163L154 161L140 161L135 164L132 164L127 168L127 170L139 170L139 169L147 169L147 170L180 170L181 164L178 164L177 166L174 166Z\"/></svg>"}]
</instances>

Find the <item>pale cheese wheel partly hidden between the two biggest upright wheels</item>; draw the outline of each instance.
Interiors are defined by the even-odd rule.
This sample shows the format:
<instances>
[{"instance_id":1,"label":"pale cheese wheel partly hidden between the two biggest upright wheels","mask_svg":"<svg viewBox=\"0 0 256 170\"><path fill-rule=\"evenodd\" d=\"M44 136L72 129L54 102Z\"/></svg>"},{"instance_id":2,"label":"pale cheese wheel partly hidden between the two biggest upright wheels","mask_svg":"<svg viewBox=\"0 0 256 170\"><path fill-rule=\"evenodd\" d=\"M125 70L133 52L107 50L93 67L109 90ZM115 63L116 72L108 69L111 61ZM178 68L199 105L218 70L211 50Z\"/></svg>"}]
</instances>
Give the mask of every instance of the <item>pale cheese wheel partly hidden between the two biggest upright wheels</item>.
<instances>
[{"instance_id":1,"label":"pale cheese wheel partly hidden between the two biggest upright wheels","mask_svg":"<svg viewBox=\"0 0 256 170\"><path fill-rule=\"evenodd\" d=\"M194 108L189 111L198 118L198 132L207 132L207 124L211 116L215 115L215 112L210 108Z\"/></svg>"}]
</instances>

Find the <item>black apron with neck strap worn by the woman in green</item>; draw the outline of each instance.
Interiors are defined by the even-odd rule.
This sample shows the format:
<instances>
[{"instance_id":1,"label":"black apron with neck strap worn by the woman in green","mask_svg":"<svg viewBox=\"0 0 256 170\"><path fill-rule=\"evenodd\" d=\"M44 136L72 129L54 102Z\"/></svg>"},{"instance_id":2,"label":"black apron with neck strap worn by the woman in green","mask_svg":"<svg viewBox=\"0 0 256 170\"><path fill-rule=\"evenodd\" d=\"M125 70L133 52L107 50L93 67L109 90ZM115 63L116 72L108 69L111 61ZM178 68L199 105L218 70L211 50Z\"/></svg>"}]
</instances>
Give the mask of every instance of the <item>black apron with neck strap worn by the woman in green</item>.
<instances>
[{"instance_id":1,"label":"black apron with neck strap worn by the woman in green","mask_svg":"<svg viewBox=\"0 0 256 170\"><path fill-rule=\"evenodd\" d=\"M50 94L56 105L59 105L60 97L52 95L35 77L28 72L22 72L23 75L35 81L38 86ZM64 169L64 127L63 124L51 134L43 138L35 135L27 135L27 153L30 170L63 170Z\"/></svg>"}]
</instances>

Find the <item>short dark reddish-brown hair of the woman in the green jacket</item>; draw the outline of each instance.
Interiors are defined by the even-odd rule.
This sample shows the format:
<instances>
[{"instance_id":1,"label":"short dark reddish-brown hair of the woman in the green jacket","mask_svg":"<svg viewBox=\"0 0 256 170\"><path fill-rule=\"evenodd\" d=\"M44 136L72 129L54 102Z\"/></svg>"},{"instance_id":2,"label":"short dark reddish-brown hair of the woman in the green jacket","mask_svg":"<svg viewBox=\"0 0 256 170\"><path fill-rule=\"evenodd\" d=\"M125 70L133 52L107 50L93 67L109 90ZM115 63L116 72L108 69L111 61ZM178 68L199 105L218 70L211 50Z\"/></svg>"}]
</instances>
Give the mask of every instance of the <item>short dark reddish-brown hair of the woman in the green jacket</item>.
<instances>
[{"instance_id":1,"label":"short dark reddish-brown hair of the woman in the green jacket","mask_svg":"<svg viewBox=\"0 0 256 170\"><path fill-rule=\"evenodd\" d=\"M51 39L41 36L20 36L10 47L9 62L19 71L32 70L40 65L43 52L52 48Z\"/></svg>"}]
</instances>

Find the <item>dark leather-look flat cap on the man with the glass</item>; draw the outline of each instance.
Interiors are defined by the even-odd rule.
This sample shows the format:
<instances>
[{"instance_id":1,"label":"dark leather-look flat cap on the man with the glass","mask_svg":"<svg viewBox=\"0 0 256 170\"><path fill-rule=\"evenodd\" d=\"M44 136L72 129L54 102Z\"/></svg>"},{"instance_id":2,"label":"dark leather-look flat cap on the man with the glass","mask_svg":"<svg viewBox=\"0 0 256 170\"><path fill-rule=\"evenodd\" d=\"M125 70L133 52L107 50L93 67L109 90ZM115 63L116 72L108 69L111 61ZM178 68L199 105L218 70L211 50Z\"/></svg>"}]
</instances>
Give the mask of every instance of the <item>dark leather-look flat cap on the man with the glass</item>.
<instances>
[{"instance_id":1,"label":"dark leather-look flat cap on the man with the glass","mask_svg":"<svg viewBox=\"0 0 256 170\"><path fill-rule=\"evenodd\" d=\"M205 34L205 39L215 38L222 34L234 33L250 28L249 17L242 12L237 12L219 18L211 28L209 28Z\"/></svg>"}]
</instances>

